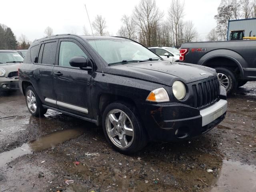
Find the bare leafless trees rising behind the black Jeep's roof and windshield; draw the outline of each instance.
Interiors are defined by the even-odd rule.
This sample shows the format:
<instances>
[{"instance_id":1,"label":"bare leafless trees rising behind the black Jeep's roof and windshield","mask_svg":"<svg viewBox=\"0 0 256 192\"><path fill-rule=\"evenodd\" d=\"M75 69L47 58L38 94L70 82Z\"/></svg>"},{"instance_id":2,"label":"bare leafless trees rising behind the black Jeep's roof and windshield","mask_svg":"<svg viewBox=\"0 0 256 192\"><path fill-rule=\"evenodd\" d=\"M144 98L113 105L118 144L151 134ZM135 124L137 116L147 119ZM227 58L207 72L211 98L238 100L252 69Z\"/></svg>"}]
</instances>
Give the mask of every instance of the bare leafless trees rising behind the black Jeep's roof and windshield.
<instances>
[{"instance_id":1,"label":"bare leafless trees rising behind the black Jeep's roof and windshield","mask_svg":"<svg viewBox=\"0 0 256 192\"><path fill-rule=\"evenodd\" d=\"M123 15L118 36L130 38L145 46L177 46L196 40L198 32L192 21L184 20L184 1L172 0L168 16L156 6L156 0L140 0L130 16ZM97 15L92 22L97 35L108 35L106 19ZM84 27L84 34L88 30Z\"/></svg>"}]
</instances>

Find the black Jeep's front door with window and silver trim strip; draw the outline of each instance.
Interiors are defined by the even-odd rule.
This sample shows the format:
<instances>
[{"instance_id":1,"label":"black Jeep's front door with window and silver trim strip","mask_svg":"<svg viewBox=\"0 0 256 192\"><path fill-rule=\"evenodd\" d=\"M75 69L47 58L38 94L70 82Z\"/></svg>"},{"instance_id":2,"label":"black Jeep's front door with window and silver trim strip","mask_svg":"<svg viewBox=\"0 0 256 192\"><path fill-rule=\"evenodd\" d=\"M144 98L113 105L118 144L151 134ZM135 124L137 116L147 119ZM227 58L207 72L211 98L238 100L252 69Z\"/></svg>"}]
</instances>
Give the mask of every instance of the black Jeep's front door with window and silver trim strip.
<instances>
[{"instance_id":1,"label":"black Jeep's front door with window and silver trim strip","mask_svg":"<svg viewBox=\"0 0 256 192\"><path fill-rule=\"evenodd\" d=\"M58 65L53 68L53 84L56 103L60 110L80 116L90 116L91 70L72 67L69 61L74 56L90 60L88 52L76 40L62 39L58 43Z\"/></svg>"}]
</instances>

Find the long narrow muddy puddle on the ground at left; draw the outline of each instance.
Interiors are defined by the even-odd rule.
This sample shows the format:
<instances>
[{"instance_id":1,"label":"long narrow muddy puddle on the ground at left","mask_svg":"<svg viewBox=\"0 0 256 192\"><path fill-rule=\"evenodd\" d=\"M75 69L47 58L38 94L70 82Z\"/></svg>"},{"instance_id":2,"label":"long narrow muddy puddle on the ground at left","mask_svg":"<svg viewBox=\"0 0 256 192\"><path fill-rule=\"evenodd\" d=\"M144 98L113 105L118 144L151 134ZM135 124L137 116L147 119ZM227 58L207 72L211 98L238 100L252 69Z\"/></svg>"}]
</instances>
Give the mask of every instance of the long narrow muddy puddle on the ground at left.
<instances>
[{"instance_id":1,"label":"long narrow muddy puddle on the ground at left","mask_svg":"<svg viewBox=\"0 0 256 192\"><path fill-rule=\"evenodd\" d=\"M65 141L76 138L82 135L85 130L86 129L79 128L53 132L52 134L43 136L31 143L25 143L18 148L3 152L0 154L0 167L18 158L19 156L52 148Z\"/></svg>"}]
</instances>

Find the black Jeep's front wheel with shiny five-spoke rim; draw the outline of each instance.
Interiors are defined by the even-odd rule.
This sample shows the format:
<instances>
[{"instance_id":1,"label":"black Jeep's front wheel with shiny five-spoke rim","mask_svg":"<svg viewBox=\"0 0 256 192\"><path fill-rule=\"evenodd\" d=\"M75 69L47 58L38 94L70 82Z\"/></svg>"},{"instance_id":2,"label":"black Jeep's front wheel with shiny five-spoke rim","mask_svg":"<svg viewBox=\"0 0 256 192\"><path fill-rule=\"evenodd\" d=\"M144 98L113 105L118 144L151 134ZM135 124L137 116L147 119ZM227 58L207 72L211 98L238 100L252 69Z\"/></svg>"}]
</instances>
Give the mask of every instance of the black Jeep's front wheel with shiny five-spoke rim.
<instances>
[{"instance_id":1,"label":"black Jeep's front wheel with shiny five-spoke rim","mask_svg":"<svg viewBox=\"0 0 256 192\"><path fill-rule=\"evenodd\" d=\"M134 106L122 102L111 103L104 110L102 118L104 134L117 151L132 154L146 146L148 138Z\"/></svg>"}]
</instances>

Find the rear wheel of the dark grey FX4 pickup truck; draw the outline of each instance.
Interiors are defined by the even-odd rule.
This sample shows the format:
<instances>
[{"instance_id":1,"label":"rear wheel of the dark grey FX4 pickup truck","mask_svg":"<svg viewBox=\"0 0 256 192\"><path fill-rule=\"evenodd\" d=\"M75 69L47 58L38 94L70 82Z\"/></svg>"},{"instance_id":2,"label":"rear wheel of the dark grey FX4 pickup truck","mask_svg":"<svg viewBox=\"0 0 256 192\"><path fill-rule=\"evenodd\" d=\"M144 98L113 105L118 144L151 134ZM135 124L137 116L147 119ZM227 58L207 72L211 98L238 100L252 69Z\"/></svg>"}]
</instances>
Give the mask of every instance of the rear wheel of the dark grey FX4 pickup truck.
<instances>
[{"instance_id":1,"label":"rear wheel of the dark grey FX4 pickup truck","mask_svg":"<svg viewBox=\"0 0 256 192\"><path fill-rule=\"evenodd\" d=\"M225 87L227 94L237 88L237 80L231 70L224 67L216 67L215 70L218 73L220 84Z\"/></svg>"}]
</instances>

